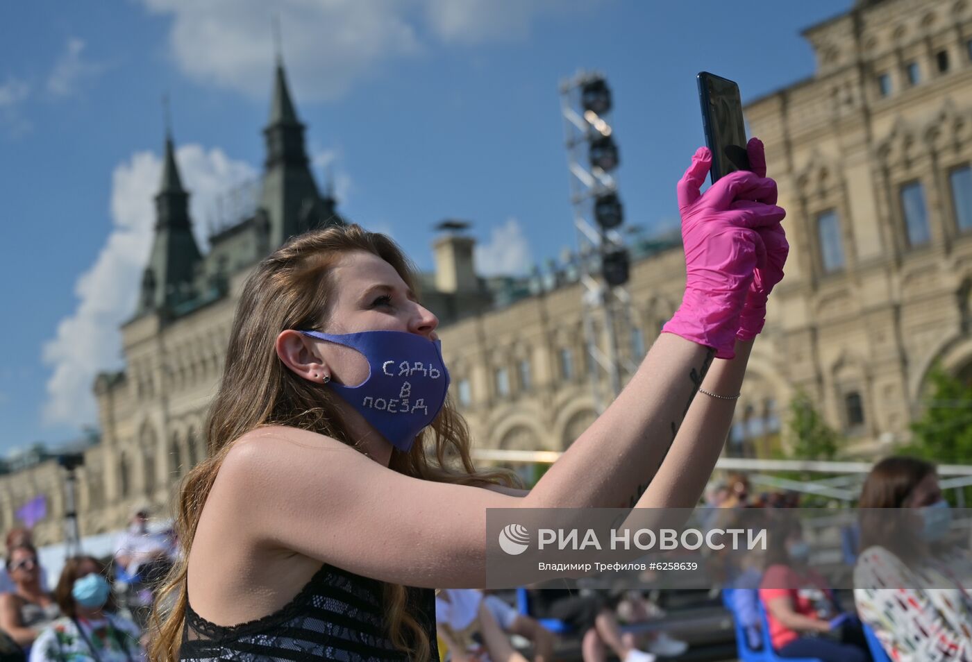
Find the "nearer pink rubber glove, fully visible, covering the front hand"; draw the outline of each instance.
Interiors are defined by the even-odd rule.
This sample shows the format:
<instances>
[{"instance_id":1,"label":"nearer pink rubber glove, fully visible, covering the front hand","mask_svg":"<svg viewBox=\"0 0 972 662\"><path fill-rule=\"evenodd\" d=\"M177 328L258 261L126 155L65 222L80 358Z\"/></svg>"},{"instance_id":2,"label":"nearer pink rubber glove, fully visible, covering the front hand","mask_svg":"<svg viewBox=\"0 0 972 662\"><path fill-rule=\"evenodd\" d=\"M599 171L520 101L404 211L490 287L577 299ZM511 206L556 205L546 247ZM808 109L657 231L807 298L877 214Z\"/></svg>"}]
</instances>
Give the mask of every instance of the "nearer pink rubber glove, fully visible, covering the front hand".
<instances>
[{"instance_id":1,"label":"nearer pink rubber glove, fully visible, covering the front hand","mask_svg":"<svg viewBox=\"0 0 972 662\"><path fill-rule=\"evenodd\" d=\"M712 153L700 147L678 182L685 294L662 331L732 359L753 269L766 261L756 228L778 225L785 212L755 201L775 198L777 183L746 170L729 173L701 194L711 167Z\"/></svg>"}]
</instances>

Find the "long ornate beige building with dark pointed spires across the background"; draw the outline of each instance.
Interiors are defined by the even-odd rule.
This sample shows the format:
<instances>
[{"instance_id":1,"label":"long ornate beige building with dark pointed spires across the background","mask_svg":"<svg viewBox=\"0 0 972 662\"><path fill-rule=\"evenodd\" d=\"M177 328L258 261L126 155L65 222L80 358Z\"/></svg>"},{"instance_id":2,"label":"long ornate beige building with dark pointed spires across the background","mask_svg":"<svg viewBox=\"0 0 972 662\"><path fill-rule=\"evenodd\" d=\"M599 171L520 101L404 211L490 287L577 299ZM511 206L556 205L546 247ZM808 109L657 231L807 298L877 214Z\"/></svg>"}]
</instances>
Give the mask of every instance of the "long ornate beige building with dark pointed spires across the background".
<instances>
[{"instance_id":1,"label":"long ornate beige building with dark pointed spires across the background","mask_svg":"<svg viewBox=\"0 0 972 662\"><path fill-rule=\"evenodd\" d=\"M851 440L848 452L870 458L907 439L934 362L972 379L972 3L858 2L804 36L816 73L746 107L780 185L791 253L728 448L767 452L802 390ZM156 242L138 309L122 327L126 366L94 385L101 441L79 470L83 534L120 528L135 503L168 504L206 452L205 409L250 268L296 233L343 223L318 192L303 130L278 67L260 206L211 237L205 255L167 139ZM632 265L629 314L615 330L629 369L684 283L677 242L647 253ZM594 385L606 386L585 347L576 274L555 270L531 290L512 281L487 289L468 237L440 237L434 254L423 296L442 319L451 397L476 445L568 446L597 415ZM596 334L604 330L595 322ZM0 476L0 527L47 494L37 538L59 539L60 471L48 462Z\"/></svg>"}]
</instances>

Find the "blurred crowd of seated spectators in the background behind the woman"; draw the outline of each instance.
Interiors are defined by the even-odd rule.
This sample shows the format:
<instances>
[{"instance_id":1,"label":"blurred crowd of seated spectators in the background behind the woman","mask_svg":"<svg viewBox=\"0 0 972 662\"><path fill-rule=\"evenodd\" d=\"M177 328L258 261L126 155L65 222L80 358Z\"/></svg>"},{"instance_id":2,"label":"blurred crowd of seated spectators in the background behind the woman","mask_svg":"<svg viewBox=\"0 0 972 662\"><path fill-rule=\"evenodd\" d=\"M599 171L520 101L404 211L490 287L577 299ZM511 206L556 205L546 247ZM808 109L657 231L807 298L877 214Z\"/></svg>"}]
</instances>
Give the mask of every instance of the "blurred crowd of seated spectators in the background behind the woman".
<instances>
[{"instance_id":1,"label":"blurred crowd of seated spectators in the background behind the woman","mask_svg":"<svg viewBox=\"0 0 972 662\"><path fill-rule=\"evenodd\" d=\"M716 483L706 501L701 513L709 525L720 517L724 523L726 513L739 508L799 505L793 493L753 494L744 474ZM727 571L728 606L741 623L746 645L753 650L770 645L781 658L865 662L872 659L863 633L867 627L894 662L972 660L972 594L963 583L972 576L972 559L940 545L949 531L950 510L935 468L914 458L887 458L865 479L859 505L861 551L852 604L841 604L812 567L811 545L795 520L774 530L764 555L744 556ZM907 539L910 529L888 526L880 508L912 509L918 518L916 538ZM30 530L11 530L0 570L0 660L144 659L140 609L151 607L151 587L177 553L170 531L150 530L150 514L144 507L132 511L109 563L84 555L69 558L53 589ZM120 594L125 596L123 611L117 605ZM687 648L666 634L638 638L623 631L619 615L633 622L661 613L637 591L528 588L525 596L527 612L489 591L438 591L441 658L526 662L520 652L524 646L518 650L513 645L519 639L536 662L551 662L558 635L544 626L544 619L566 627L579 641L584 662L603 662L609 654L625 662L651 662L677 657Z\"/></svg>"}]
</instances>

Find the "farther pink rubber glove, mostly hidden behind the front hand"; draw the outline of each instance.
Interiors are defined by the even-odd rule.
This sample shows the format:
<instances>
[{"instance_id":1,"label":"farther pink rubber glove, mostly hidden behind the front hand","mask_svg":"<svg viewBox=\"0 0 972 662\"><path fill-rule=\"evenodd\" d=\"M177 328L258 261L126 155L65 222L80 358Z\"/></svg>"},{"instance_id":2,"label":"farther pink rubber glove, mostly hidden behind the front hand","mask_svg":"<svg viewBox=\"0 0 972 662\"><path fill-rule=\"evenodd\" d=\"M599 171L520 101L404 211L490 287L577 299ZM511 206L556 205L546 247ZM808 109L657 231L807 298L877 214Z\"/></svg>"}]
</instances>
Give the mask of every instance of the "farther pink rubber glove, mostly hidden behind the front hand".
<instances>
[{"instance_id":1,"label":"farther pink rubber glove, mostly hidden behind the front hand","mask_svg":"<svg viewBox=\"0 0 972 662\"><path fill-rule=\"evenodd\" d=\"M749 157L749 167L759 177L766 177L766 153L763 143L758 138L750 138L746 144ZM776 204L777 192L773 190L771 196L754 200L763 204ZM746 305L739 318L739 331L736 337L740 340L752 340L759 331L763 331L766 324L766 299L777 283L783 279L783 264L789 254L789 244L786 242L786 232L783 226L759 227L757 230L766 247L766 264L757 266L746 293Z\"/></svg>"}]
</instances>

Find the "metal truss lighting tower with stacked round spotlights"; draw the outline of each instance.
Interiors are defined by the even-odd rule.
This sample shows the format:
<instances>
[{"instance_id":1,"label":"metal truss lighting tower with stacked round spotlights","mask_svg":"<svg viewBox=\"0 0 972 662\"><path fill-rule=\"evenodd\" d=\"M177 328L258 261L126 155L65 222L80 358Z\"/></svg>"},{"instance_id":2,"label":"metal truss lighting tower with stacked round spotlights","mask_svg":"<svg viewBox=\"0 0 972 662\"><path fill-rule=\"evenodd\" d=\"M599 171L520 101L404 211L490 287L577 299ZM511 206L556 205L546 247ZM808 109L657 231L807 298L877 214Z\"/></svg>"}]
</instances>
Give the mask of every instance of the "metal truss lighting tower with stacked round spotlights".
<instances>
[{"instance_id":1,"label":"metal truss lighting tower with stacked round spotlights","mask_svg":"<svg viewBox=\"0 0 972 662\"><path fill-rule=\"evenodd\" d=\"M619 307L628 315L630 261L617 182L611 174L619 163L610 125L611 93L598 72L579 71L560 85L561 114L571 172L573 226L577 232L578 266L584 286L584 341L593 366L590 370L598 412L621 391L621 367L617 346ZM594 321L603 319L606 350L602 351ZM609 393L603 391L601 370L608 376ZM607 396L607 397L606 397Z\"/></svg>"}]
</instances>

